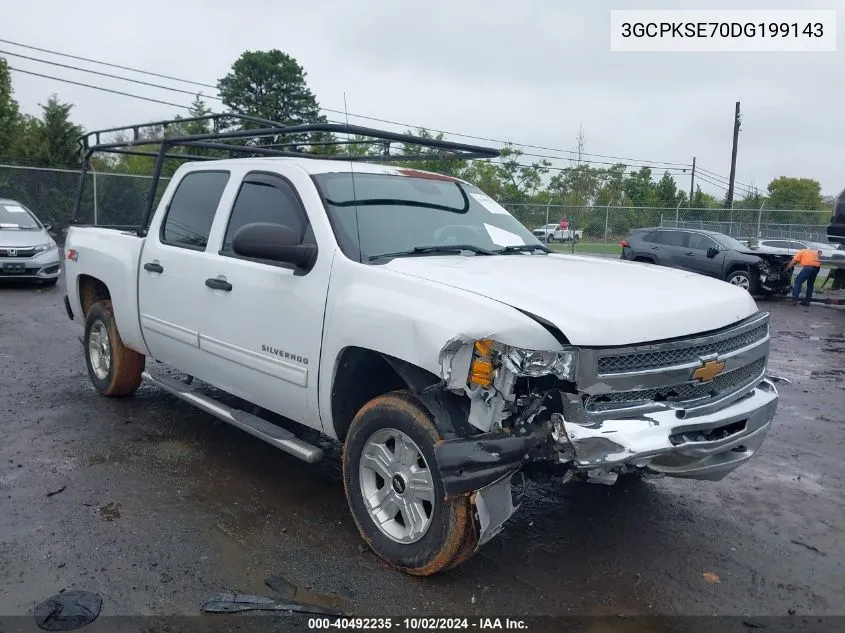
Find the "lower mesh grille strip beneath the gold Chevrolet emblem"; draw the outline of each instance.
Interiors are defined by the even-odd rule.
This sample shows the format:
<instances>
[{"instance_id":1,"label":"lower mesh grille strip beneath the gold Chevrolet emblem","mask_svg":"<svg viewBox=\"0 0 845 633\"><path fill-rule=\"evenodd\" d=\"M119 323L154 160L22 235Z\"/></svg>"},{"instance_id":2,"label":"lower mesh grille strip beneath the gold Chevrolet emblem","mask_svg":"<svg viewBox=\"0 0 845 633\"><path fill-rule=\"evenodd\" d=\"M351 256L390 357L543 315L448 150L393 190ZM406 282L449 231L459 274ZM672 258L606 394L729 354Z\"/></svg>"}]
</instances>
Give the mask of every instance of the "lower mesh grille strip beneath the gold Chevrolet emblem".
<instances>
[{"instance_id":1,"label":"lower mesh grille strip beneath the gold Chevrolet emblem","mask_svg":"<svg viewBox=\"0 0 845 633\"><path fill-rule=\"evenodd\" d=\"M710 382L685 382L655 389L616 391L600 396L590 396L584 406L588 411L601 411L628 406L637 402L686 402L704 398L717 398L728 395L746 385L750 386L756 378L762 376L765 369L766 358L763 357L753 363L717 376Z\"/></svg>"}]
</instances>

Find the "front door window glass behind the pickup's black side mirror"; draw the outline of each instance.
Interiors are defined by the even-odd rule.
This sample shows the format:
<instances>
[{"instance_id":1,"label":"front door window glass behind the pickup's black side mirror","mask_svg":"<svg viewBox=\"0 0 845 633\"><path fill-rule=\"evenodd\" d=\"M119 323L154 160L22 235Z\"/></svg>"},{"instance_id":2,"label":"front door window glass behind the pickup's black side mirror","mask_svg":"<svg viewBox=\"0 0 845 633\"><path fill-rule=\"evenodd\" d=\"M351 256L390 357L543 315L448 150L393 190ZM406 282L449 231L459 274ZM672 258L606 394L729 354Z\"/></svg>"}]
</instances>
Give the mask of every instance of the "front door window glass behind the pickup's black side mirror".
<instances>
[{"instance_id":1,"label":"front door window glass behind the pickup's black side mirror","mask_svg":"<svg viewBox=\"0 0 845 633\"><path fill-rule=\"evenodd\" d=\"M308 227L305 210L293 187L284 179L269 174L250 174L244 178L232 206L220 254L234 255L232 241L235 233L242 226L254 222L283 224L293 229L300 240Z\"/></svg>"}]
</instances>

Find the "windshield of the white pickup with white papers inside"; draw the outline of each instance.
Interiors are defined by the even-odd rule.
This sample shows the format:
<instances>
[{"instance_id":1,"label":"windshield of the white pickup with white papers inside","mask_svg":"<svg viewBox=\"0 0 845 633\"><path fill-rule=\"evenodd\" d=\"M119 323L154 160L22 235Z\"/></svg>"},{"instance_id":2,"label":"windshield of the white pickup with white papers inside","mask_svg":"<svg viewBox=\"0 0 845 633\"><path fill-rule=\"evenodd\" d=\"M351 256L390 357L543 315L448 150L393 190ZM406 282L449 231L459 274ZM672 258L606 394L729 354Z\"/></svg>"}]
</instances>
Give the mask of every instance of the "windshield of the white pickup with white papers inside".
<instances>
[{"instance_id":1,"label":"windshield of the white pickup with white papers inside","mask_svg":"<svg viewBox=\"0 0 845 633\"><path fill-rule=\"evenodd\" d=\"M402 173L414 175L314 176L338 243L351 259L368 262L415 248L450 245L467 247L463 250L468 253L509 246L543 248L531 231L477 187L446 176L399 170Z\"/></svg>"}]
</instances>

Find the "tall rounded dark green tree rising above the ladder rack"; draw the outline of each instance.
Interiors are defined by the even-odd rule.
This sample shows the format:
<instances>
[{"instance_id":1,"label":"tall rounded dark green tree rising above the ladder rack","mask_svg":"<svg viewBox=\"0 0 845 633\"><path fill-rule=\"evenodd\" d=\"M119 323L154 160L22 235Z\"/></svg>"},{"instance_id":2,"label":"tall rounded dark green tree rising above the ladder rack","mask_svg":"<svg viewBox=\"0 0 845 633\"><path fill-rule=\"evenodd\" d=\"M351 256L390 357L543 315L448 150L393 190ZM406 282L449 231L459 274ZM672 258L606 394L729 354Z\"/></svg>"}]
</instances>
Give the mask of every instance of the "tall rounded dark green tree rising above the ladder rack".
<instances>
[{"instance_id":1,"label":"tall rounded dark green tree rising above the ladder rack","mask_svg":"<svg viewBox=\"0 0 845 633\"><path fill-rule=\"evenodd\" d=\"M305 76L296 59L280 50L246 51L232 64L229 74L217 82L217 87L223 103L235 113L285 125L323 121L317 98L308 88ZM260 125L244 127L254 129ZM291 140L307 140L307 137L285 137L285 142ZM324 138L318 140L326 142ZM275 137L259 141L263 145L277 142Z\"/></svg>"}]
</instances>

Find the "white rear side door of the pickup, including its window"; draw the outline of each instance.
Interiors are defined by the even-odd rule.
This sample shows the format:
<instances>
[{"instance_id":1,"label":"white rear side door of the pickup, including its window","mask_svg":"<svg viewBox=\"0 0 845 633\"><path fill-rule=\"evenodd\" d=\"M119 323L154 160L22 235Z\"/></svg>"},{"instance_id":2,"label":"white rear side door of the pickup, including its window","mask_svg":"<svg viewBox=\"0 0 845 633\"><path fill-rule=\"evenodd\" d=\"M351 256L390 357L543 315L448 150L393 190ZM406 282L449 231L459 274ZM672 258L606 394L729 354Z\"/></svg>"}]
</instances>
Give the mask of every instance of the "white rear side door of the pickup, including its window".
<instances>
[{"instance_id":1,"label":"white rear side door of the pickup, including its window","mask_svg":"<svg viewBox=\"0 0 845 633\"><path fill-rule=\"evenodd\" d=\"M141 331L150 353L199 378L206 373L199 348L206 249L228 182L228 171L185 174L153 218L138 271Z\"/></svg>"}]
</instances>

